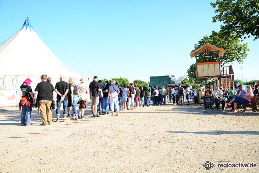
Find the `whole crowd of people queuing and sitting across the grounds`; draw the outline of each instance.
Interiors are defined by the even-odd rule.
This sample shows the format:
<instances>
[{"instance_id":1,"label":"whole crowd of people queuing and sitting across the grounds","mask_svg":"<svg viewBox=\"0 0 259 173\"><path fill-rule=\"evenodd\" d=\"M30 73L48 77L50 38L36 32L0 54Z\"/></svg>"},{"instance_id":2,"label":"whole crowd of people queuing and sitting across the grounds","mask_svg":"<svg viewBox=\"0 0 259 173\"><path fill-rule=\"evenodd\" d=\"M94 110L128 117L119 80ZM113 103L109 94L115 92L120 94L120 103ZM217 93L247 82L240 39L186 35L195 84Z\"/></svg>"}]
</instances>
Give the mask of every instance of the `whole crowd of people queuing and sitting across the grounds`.
<instances>
[{"instance_id":1,"label":"whole crowd of people queuing and sitting across the grounds","mask_svg":"<svg viewBox=\"0 0 259 173\"><path fill-rule=\"evenodd\" d=\"M22 97L19 103L21 110L21 125L32 125L31 123L31 110L33 106L38 107L38 113L41 115L42 124L52 124L52 109L55 109L54 93L57 93L56 97L56 120L59 122L60 107L63 105L63 116L64 122L70 120L78 120L80 118L86 118L84 116L85 109L87 109L87 94L90 94L91 99L91 111L93 117L100 117L100 115L107 115L112 113L110 116L119 116L120 111L138 109L140 106L149 107L157 105L165 105L166 103L173 103L183 105L184 99L187 100L188 104L194 102L197 97L197 92L193 89L190 91L189 85L184 89L181 84L177 87L168 86L151 86L149 83L144 87L140 87L130 83L130 85L123 85L121 88L120 83L116 83L112 80L109 84L105 81L98 81L98 77L94 76L89 87L85 83L84 78L80 79L80 84L75 85L73 78L70 78L68 82L65 81L65 77L61 76L60 81L56 83L55 88L51 84L51 78L47 75L41 76L41 82L37 84L35 88L35 94L33 94L30 87L31 80L26 79L21 85ZM233 113L236 113L237 104L251 102L253 96L259 96L258 85L247 86L243 88L239 85L234 90L230 87L230 91L226 87L216 85L216 89L211 91L211 87L207 87L201 90L201 98L207 103L204 105L205 109L208 106L213 97L213 101L216 104L216 109L219 109L220 104L222 110L225 110L225 105L230 105ZM224 97L223 97L224 96ZM190 100L189 100L190 99ZM76 105L79 104L79 111L76 110ZM70 114L70 108L71 114ZM117 112L117 114L114 114Z\"/></svg>"}]
</instances>

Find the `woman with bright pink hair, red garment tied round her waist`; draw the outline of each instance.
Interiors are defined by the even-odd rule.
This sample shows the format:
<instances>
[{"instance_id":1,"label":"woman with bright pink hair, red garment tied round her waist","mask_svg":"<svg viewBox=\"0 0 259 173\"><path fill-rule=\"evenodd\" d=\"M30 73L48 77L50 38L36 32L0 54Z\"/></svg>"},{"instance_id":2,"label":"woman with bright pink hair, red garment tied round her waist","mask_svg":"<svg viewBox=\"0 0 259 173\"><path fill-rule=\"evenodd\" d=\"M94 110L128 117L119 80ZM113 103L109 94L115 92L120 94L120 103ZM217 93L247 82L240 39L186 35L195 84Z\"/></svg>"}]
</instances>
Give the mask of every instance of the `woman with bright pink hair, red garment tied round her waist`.
<instances>
[{"instance_id":1,"label":"woman with bright pink hair, red garment tied round her waist","mask_svg":"<svg viewBox=\"0 0 259 173\"><path fill-rule=\"evenodd\" d=\"M33 103L35 103L34 94L30 87L30 83L31 83L30 79L25 79L25 81L23 82L23 85L21 85L20 87L23 92L23 95L19 103L20 111L22 107L21 125L27 125L27 126L32 125L30 114L33 107Z\"/></svg>"}]
</instances>

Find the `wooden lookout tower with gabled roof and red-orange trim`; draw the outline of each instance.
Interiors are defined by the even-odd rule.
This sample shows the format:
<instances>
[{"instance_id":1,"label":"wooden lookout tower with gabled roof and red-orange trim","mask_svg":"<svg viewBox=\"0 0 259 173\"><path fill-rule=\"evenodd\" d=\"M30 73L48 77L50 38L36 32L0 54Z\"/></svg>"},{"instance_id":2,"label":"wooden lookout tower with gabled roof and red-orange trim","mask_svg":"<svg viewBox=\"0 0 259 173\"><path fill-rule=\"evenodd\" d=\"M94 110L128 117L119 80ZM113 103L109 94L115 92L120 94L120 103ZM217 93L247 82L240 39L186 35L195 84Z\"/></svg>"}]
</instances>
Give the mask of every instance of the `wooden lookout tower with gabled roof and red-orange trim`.
<instances>
[{"instance_id":1,"label":"wooden lookout tower with gabled roof and red-orange trim","mask_svg":"<svg viewBox=\"0 0 259 173\"><path fill-rule=\"evenodd\" d=\"M211 54L213 52L214 54ZM202 53L203 55L199 55ZM215 86L225 86L228 89L231 86L234 86L234 72L232 66L229 67L221 67L220 55L222 56L225 53L224 49L218 48L217 46L206 43L200 48L194 50L190 53L191 58L195 56L196 59L196 76L197 76L197 85L199 86L198 79L209 79L215 78L213 83L211 84L211 88L215 90ZM205 54L205 55L204 55ZM207 63L197 63L197 57L201 56L215 56L215 62L207 62Z\"/></svg>"}]
</instances>

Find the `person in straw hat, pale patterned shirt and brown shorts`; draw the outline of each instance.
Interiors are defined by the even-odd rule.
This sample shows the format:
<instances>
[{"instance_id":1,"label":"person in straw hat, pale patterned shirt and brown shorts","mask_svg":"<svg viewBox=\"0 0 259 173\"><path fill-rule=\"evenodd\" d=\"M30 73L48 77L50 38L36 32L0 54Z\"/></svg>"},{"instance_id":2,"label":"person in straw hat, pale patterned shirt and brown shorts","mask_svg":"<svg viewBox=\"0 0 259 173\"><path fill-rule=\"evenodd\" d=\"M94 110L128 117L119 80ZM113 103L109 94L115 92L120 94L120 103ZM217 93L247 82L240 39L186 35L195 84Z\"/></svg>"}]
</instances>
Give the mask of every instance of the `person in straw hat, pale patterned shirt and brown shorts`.
<instances>
[{"instance_id":1,"label":"person in straw hat, pale patterned shirt and brown shorts","mask_svg":"<svg viewBox=\"0 0 259 173\"><path fill-rule=\"evenodd\" d=\"M80 84L76 85L77 86L77 92L80 94L79 98L79 115L78 118L85 118L84 110L87 109L87 94L89 93L89 89L86 85L86 80L84 78L80 79Z\"/></svg>"}]
</instances>

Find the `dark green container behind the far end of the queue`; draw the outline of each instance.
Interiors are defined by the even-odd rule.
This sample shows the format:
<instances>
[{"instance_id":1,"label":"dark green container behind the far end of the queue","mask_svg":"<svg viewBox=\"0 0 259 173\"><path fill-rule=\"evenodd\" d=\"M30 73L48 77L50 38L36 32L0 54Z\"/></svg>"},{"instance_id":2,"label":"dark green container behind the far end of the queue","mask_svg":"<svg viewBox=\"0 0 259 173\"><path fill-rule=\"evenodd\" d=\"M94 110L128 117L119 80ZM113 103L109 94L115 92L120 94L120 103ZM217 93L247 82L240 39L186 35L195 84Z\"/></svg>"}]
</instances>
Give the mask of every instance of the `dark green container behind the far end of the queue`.
<instances>
[{"instance_id":1,"label":"dark green container behind the far end of the queue","mask_svg":"<svg viewBox=\"0 0 259 173\"><path fill-rule=\"evenodd\" d=\"M175 84L174 81L171 80L171 78L169 77L170 75L166 75L166 76L150 76L149 80L150 80L150 87L151 86L156 86L156 87L162 87L168 84ZM175 77L174 75L172 75L173 77Z\"/></svg>"}]
</instances>

